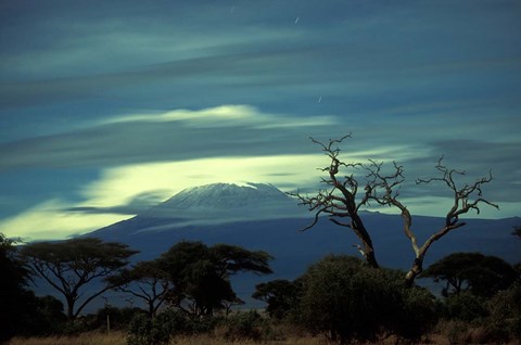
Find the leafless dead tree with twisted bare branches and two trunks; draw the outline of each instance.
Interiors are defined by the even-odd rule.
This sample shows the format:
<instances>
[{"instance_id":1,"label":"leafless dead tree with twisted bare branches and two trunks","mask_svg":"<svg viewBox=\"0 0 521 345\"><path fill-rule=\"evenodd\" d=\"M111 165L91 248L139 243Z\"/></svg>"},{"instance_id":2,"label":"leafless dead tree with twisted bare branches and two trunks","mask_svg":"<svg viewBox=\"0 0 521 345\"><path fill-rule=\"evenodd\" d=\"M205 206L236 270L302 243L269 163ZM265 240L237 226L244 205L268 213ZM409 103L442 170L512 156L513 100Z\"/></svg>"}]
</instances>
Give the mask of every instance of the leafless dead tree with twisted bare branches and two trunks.
<instances>
[{"instance_id":1,"label":"leafless dead tree with twisted bare branches and two trunks","mask_svg":"<svg viewBox=\"0 0 521 345\"><path fill-rule=\"evenodd\" d=\"M370 206L371 203L396 207L402 215L405 235L409 239L415 252L415 259L405 277L409 285L423 270L423 260L431 245L450 231L466 225L459 220L461 215L470 210L480 213L482 204L498 208L496 204L482 197L482 187L492 181L492 173L471 184L458 186L456 177L463 176L465 171L446 167L442 157L436 165L441 176L417 179L416 183L442 182L448 188L454 202L445 216L444 223L420 244L412 230L412 216L407 206L399 201L399 188L405 181L404 167L393 162L391 173L384 173L382 162L368 159L367 163L345 163L341 161L339 157L341 149L338 144L346 138L351 138L351 135L341 139L330 139L328 143L310 138L314 143L320 145L322 152L329 157L330 164L320 168L327 174L327 177L321 178L321 182L327 186L326 189L313 196L303 195L300 192L291 194L310 212L315 212L315 219L304 230L314 227L322 214L329 216L334 223L352 229L361 243L355 246L370 266L378 268L371 235L364 225L359 210Z\"/></svg>"}]
</instances>

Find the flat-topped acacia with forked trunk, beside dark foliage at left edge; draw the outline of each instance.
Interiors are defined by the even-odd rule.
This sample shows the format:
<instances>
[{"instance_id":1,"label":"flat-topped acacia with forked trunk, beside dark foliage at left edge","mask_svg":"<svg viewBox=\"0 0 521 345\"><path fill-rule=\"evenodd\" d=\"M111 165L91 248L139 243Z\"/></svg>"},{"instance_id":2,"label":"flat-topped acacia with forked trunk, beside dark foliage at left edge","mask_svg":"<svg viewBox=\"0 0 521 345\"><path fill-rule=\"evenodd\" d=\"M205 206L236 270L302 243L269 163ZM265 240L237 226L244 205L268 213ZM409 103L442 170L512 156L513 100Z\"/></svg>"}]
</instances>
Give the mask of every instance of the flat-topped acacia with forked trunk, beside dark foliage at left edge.
<instances>
[{"instance_id":1,"label":"flat-topped acacia with forked trunk, beside dark foliage at left edge","mask_svg":"<svg viewBox=\"0 0 521 345\"><path fill-rule=\"evenodd\" d=\"M106 281L89 293L85 288L118 272L136 253L126 244L103 242L96 238L37 242L21 250L33 269L65 297L69 320L74 320L92 299L116 284ZM82 302L76 307L81 298Z\"/></svg>"}]
</instances>

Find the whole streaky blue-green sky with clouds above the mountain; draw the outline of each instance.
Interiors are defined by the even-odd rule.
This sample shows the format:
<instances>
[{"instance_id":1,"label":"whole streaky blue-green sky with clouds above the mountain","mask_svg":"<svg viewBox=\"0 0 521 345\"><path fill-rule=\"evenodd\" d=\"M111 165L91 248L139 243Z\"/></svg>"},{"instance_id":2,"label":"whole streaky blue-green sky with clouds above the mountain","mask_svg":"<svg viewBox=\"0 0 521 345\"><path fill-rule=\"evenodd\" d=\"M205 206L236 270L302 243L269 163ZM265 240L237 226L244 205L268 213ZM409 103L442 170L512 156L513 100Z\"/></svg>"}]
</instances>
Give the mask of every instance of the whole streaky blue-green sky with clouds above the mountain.
<instances>
[{"instance_id":1,"label":"whole streaky blue-green sky with clouds above the mountain","mask_svg":"<svg viewBox=\"0 0 521 345\"><path fill-rule=\"evenodd\" d=\"M520 216L521 2L0 0L0 232L65 239L214 182L319 189L309 137L444 163ZM84 209L84 212L81 212ZM88 212L87 212L88 209ZM474 217L475 215L469 215Z\"/></svg>"}]
</instances>

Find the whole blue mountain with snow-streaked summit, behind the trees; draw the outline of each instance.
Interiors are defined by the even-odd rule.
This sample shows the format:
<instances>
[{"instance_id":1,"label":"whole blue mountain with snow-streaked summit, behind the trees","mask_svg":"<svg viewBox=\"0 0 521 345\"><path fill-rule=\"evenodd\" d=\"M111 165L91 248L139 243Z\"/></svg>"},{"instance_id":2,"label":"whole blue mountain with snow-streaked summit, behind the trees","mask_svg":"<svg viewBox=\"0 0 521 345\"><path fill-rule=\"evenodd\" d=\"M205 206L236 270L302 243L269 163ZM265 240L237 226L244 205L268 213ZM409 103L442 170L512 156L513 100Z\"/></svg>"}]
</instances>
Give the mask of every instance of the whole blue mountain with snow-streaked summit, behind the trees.
<instances>
[{"instance_id":1,"label":"whole blue mountain with snow-streaked summit, behind the trees","mask_svg":"<svg viewBox=\"0 0 521 345\"><path fill-rule=\"evenodd\" d=\"M274 274L242 274L232 281L240 297L252 302L250 295L256 283L278 278L294 279L327 254L358 255L353 247L358 241L350 229L327 219L320 219L307 231L300 231L313 216L274 186L216 183L183 190L134 218L86 235L126 243L141 251L137 256L139 260L155 258L183 240L266 251L275 257ZM402 218L365 212L363 219L372 235L380 264L391 268L409 267L414 253L403 233ZM443 223L444 218L439 217L414 218L419 241ZM510 263L520 261L521 241L511 235L512 228L520 223L518 217L468 219L467 226L432 245L425 266L454 252L481 252Z\"/></svg>"}]
</instances>

